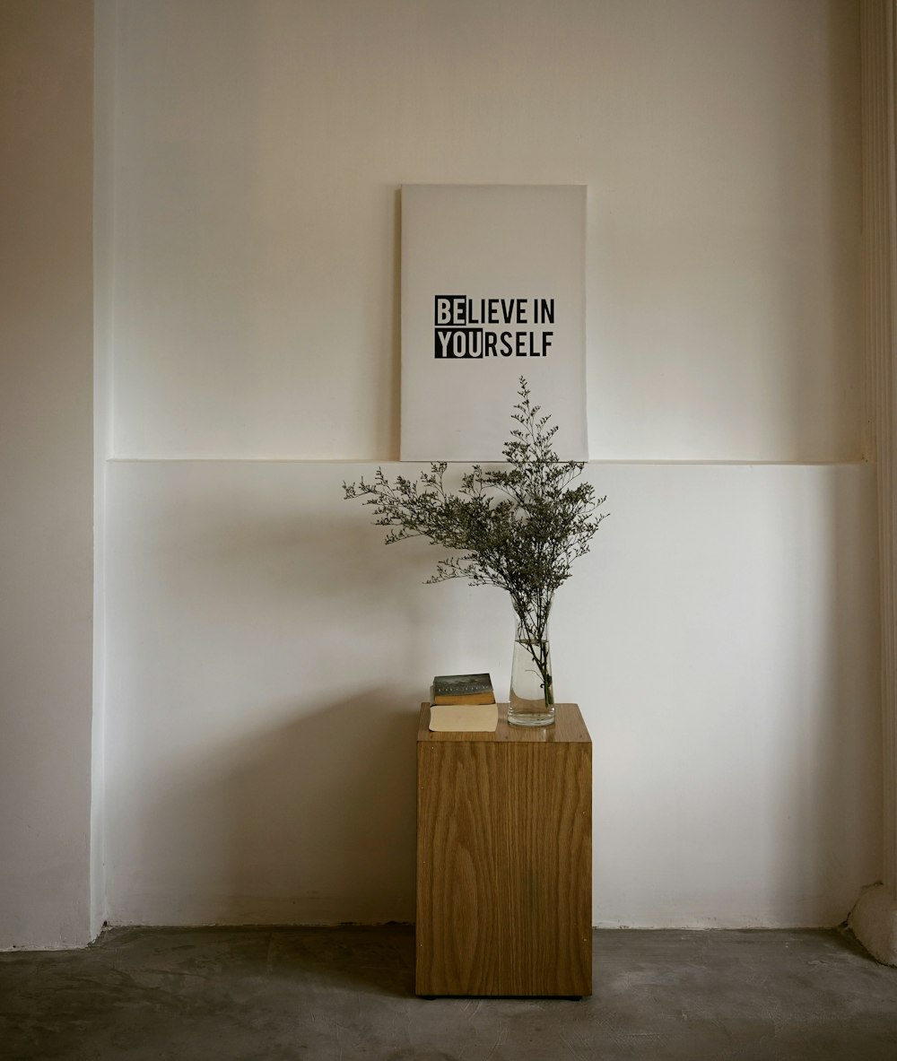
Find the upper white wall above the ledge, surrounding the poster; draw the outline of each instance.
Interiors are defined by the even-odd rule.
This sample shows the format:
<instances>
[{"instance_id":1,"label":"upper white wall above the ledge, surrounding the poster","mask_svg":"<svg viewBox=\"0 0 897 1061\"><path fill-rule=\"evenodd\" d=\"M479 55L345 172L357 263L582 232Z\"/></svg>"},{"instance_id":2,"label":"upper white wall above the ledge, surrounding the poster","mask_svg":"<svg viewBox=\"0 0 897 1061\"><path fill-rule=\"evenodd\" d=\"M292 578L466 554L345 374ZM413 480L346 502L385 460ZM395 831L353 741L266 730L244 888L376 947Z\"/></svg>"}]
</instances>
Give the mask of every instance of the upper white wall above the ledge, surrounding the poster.
<instances>
[{"instance_id":1,"label":"upper white wall above the ledge, surrounding the poster","mask_svg":"<svg viewBox=\"0 0 897 1061\"><path fill-rule=\"evenodd\" d=\"M397 189L472 181L589 187L593 458L859 458L855 3L118 7L117 455L397 457Z\"/></svg>"}]
</instances>

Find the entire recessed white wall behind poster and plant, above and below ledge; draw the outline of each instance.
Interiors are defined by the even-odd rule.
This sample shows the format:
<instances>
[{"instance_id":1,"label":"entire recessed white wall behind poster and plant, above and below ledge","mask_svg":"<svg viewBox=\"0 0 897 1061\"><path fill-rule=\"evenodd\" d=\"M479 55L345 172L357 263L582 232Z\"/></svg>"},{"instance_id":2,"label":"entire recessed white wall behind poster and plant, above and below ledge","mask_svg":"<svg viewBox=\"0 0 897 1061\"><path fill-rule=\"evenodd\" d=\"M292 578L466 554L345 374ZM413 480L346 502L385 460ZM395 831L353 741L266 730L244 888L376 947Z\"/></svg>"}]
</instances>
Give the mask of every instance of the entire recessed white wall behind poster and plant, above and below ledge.
<instances>
[{"instance_id":1,"label":"entire recessed white wall behind poster and plant, above and below ledge","mask_svg":"<svg viewBox=\"0 0 897 1061\"><path fill-rule=\"evenodd\" d=\"M511 618L340 484L397 452L397 188L469 180L590 190L614 516L553 639L596 921L841 921L880 858L874 477L761 462L860 456L856 5L114 8L110 920L413 916L416 705L501 685Z\"/></svg>"}]
</instances>

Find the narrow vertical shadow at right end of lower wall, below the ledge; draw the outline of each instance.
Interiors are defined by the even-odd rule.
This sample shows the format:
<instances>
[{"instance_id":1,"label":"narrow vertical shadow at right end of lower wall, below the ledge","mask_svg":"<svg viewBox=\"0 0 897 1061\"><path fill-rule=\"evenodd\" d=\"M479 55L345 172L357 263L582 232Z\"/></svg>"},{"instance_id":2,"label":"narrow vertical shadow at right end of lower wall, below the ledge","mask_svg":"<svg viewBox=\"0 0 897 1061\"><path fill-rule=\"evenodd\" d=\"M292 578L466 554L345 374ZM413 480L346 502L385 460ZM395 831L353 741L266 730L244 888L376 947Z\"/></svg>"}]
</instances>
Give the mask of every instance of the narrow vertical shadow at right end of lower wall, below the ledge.
<instances>
[{"instance_id":1,"label":"narrow vertical shadow at right end of lower wall, below the ledge","mask_svg":"<svg viewBox=\"0 0 897 1061\"><path fill-rule=\"evenodd\" d=\"M869 606L878 585L876 509L849 468L818 474L829 488L815 508L808 495L793 528L798 592L789 640L799 684L792 780L779 794L777 820L782 863L787 852L799 852L797 874L779 886L818 908L821 925L829 926L859 898L855 880L872 884L880 875L881 762L870 754L880 744L880 630Z\"/></svg>"}]
</instances>

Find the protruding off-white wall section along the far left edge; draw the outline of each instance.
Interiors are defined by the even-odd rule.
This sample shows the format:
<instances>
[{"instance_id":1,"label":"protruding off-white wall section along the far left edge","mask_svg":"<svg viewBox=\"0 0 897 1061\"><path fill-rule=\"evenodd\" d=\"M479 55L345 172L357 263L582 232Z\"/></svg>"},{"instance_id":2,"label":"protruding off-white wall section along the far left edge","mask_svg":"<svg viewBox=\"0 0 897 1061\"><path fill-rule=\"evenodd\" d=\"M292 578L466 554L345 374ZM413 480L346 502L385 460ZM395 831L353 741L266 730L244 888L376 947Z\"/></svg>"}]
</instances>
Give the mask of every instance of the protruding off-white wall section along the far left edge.
<instances>
[{"instance_id":1,"label":"protruding off-white wall section along the far left edge","mask_svg":"<svg viewBox=\"0 0 897 1061\"><path fill-rule=\"evenodd\" d=\"M0 5L0 949L89 939L92 59Z\"/></svg>"}]
</instances>

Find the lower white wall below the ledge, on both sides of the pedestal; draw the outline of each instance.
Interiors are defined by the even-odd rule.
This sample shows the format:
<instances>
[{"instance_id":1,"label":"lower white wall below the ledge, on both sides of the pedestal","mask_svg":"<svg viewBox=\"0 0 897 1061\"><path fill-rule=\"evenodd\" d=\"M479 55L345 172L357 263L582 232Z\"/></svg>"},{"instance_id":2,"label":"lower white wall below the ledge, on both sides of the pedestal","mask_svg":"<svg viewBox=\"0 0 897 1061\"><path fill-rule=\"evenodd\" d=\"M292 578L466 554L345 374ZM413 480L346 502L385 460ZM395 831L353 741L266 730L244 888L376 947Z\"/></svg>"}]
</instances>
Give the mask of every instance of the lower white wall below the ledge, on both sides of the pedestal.
<instances>
[{"instance_id":1,"label":"lower white wall below the ledge, on both sides of the pedestal","mask_svg":"<svg viewBox=\"0 0 897 1061\"><path fill-rule=\"evenodd\" d=\"M370 471L110 466L113 923L413 920L417 706L446 667L506 697L513 620L381 544L340 488ZM552 648L597 923L839 923L878 872L874 469L588 474Z\"/></svg>"}]
</instances>

